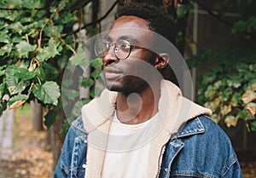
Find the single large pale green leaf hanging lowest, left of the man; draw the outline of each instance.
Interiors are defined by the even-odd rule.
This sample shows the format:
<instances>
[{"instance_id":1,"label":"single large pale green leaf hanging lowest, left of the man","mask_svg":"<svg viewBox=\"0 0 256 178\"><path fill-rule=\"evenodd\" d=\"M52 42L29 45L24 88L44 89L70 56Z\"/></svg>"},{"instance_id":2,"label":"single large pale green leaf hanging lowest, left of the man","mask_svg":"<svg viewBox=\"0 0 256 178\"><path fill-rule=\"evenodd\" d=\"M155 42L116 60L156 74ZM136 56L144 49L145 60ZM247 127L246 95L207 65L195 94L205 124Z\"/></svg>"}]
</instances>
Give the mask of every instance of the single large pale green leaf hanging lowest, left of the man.
<instances>
[{"instance_id":1,"label":"single large pale green leaf hanging lowest, left of the man","mask_svg":"<svg viewBox=\"0 0 256 178\"><path fill-rule=\"evenodd\" d=\"M32 89L32 93L45 104L57 105L60 97L60 87L55 82L46 82L43 85L37 85Z\"/></svg>"}]
</instances>

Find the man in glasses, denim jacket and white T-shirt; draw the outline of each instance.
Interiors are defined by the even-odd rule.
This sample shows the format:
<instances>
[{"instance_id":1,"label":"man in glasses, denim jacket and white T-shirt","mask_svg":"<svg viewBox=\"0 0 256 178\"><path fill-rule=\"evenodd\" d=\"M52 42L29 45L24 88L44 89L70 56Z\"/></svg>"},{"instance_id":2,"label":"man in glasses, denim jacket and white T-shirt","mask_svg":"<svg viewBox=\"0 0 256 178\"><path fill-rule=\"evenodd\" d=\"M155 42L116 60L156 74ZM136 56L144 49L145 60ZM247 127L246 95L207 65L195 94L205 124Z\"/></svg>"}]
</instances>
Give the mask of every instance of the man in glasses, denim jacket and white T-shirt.
<instances>
[{"instance_id":1,"label":"man in glasses, denim jacket and white T-shirt","mask_svg":"<svg viewBox=\"0 0 256 178\"><path fill-rule=\"evenodd\" d=\"M170 39L166 21L159 9L131 3L96 41L108 89L73 122L55 177L241 177L211 111L161 75L171 55L155 47L154 32Z\"/></svg>"}]
</instances>

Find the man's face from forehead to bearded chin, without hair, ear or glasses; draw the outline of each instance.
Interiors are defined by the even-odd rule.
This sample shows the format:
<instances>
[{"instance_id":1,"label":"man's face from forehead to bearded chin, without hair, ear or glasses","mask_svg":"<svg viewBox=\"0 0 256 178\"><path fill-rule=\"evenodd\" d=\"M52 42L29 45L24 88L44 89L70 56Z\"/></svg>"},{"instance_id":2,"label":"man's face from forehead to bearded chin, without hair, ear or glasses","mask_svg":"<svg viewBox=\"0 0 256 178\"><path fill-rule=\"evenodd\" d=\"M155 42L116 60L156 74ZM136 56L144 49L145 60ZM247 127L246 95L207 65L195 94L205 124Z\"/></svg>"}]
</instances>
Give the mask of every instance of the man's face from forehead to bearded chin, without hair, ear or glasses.
<instances>
[{"instance_id":1,"label":"man's face from forehead to bearded chin, without hair, ear or glasses","mask_svg":"<svg viewBox=\"0 0 256 178\"><path fill-rule=\"evenodd\" d=\"M136 16L122 16L113 22L106 39L108 42L117 43L125 40L133 46L146 49L131 49L126 59L119 59L114 54L114 45L104 54L104 77L107 88L129 95L140 93L148 87L155 70L153 52L149 51L152 41L148 22Z\"/></svg>"}]
</instances>

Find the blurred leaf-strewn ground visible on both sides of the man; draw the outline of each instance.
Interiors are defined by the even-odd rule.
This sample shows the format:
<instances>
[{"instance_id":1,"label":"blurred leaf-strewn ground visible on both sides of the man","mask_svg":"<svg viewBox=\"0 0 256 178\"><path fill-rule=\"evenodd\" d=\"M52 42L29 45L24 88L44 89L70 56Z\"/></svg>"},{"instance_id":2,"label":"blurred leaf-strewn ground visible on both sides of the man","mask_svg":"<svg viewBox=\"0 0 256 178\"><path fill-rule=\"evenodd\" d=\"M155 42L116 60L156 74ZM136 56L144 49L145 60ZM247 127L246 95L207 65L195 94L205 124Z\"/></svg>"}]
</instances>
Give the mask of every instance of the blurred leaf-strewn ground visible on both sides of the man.
<instances>
[{"instance_id":1,"label":"blurred leaf-strewn ground visible on both sides of the man","mask_svg":"<svg viewBox=\"0 0 256 178\"><path fill-rule=\"evenodd\" d=\"M8 160L0 161L0 178L52 177L52 153L46 146L46 130L41 132L32 130L31 113L27 106L23 110L15 111L13 132L12 155ZM244 156L241 158L243 159ZM255 168L255 160L241 161L244 178L256 178Z\"/></svg>"}]
</instances>

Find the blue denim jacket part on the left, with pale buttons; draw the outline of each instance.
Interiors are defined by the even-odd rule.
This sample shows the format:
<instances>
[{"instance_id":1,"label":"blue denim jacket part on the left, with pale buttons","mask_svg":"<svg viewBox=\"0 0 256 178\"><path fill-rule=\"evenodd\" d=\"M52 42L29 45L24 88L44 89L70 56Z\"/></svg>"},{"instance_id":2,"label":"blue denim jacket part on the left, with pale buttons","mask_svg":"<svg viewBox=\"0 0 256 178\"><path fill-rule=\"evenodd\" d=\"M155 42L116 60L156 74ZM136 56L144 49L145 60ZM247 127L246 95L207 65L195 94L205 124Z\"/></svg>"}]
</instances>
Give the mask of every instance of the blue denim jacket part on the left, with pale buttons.
<instances>
[{"instance_id":1,"label":"blue denim jacket part on the left, with pale buttons","mask_svg":"<svg viewBox=\"0 0 256 178\"><path fill-rule=\"evenodd\" d=\"M55 167L54 178L84 177L87 135L77 118L67 132L61 155Z\"/></svg>"}]
</instances>

